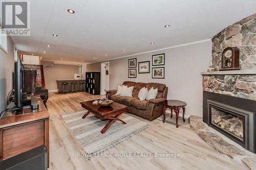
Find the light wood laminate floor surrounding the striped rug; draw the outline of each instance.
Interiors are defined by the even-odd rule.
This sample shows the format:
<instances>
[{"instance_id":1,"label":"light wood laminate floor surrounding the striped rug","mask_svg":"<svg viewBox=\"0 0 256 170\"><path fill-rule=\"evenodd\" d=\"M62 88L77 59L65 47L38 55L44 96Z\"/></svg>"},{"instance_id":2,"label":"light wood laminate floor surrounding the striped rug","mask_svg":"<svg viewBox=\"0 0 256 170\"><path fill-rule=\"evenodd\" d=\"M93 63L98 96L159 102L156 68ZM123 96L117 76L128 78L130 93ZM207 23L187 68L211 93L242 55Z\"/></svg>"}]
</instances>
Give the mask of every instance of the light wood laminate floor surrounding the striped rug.
<instances>
[{"instance_id":1,"label":"light wood laminate floor surrounding the striped rug","mask_svg":"<svg viewBox=\"0 0 256 170\"><path fill-rule=\"evenodd\" d=\"M178 129L161 119L148 122L152 127L132 136L106 153L178 153L178 158L160 157L78 157L83 150L67 129L60 114L83 110L82 101L104 98L88 93L50 93L50 168L59 169L245 169L229 157L209 147L189 125ZM166 115L169 118L169 114ZM111 128L111 127L110 127ZM101 133L99 132L99 135Z\"/></svg>"}]
</instances>

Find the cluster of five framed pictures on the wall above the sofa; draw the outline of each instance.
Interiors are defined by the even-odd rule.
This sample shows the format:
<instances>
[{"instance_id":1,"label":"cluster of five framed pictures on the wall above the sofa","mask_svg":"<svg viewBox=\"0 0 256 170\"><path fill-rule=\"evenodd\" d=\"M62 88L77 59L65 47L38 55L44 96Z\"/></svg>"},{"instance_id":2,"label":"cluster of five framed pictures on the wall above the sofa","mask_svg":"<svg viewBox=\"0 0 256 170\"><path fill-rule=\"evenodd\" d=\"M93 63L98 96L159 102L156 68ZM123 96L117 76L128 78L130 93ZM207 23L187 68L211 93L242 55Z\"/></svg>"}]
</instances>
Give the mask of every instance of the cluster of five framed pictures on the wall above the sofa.
<instances>
[{"instance_id":1,"label":"cluster of five framed pictures on the wall above the sofa","mask_svg":"<svg viewBox=\"0 0 256 170\"><path fill-rule=\"evenodd\" d=\"M165 64L165 54L152 55L152 79L164 79L165 67L154 67ZM137 78L137 58L128 60L128 78ZM150 61L138 62L138 73L150 73Z\"/></svg>"}]
</instances>

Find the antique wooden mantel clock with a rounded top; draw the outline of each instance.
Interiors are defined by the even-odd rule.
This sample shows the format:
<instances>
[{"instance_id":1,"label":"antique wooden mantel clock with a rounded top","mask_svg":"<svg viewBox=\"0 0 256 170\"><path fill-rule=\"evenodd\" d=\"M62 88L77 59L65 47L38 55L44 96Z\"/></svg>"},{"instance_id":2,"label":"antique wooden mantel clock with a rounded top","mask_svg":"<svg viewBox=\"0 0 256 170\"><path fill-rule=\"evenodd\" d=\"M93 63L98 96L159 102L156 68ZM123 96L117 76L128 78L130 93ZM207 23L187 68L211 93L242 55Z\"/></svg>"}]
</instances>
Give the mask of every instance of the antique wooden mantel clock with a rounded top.
<instances>
[{"instance_id":1,"label":"antique wooden mantel clock with a rounded top","mask_svg":"<svg viewBox=\"0 0 256 170\"><path fill-rule=\"evenodd\" d=\"M239 70L239 49L238 47L226 47L222 52L222 64L220 71Z\"/></svg>"}]
</instances>

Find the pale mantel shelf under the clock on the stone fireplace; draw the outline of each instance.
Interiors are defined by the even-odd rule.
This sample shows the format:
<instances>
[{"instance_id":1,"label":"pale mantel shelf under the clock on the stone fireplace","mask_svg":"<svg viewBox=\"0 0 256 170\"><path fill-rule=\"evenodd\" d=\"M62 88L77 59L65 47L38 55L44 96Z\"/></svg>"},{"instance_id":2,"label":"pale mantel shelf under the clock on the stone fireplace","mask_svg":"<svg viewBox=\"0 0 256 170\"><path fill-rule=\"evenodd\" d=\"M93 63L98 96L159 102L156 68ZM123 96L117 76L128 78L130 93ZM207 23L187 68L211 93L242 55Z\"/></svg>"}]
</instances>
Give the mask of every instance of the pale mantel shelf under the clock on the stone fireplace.
<instances>
[{"instance_id":1,"label":"pale mantel shelf under the clock on the stone fireplace","mask_svg":"<svg viewBox=\"0 0 256 170\"><path fill-rule=\"evenodd\" d=\"M256 69L230 70L230 71L208 71L208 72L201 72L201 75L256 75Z\"/></svg>"}]
</instances>

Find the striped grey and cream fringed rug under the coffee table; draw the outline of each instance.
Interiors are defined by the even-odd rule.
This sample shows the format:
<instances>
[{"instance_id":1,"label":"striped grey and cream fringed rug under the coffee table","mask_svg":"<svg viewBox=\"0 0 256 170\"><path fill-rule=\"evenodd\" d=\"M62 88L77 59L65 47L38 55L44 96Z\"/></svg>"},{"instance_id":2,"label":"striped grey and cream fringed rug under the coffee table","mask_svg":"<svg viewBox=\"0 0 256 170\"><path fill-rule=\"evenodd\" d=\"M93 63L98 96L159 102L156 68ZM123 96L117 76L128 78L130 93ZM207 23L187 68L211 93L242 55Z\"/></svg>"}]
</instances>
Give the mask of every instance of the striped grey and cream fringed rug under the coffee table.
<instances>
[{"instance_id":1,"label":"striped grey and cream fringed rug under the coffee table","mask_svg":"<svg viewBox=\"0 0 256 170\"><path fill-rule=\"evenodd\" d=\"M126 124L114 122L104 134L101 134L101 129L109 120L100 120L91 113L82 119L86 112L87 110L83 110L62 114L61 117L88 156L101 154L150 127L137 118L122 114L119 118Z\"/></svg>"}]
</instances>

